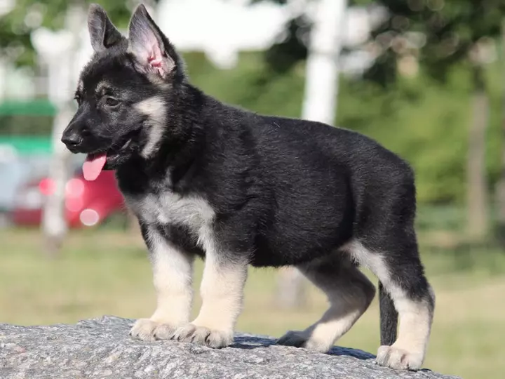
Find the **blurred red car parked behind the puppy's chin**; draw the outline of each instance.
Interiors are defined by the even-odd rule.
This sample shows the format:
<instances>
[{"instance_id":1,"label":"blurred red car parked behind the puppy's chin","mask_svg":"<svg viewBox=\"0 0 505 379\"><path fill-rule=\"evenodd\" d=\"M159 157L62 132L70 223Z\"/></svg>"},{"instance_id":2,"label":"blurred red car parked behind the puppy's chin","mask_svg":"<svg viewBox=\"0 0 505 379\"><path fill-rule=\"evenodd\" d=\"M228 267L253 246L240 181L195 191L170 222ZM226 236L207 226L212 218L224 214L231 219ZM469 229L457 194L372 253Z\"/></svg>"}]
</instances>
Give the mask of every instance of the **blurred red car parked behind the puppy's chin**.
<instances>
[{"instance_id":1,"label":"blurred red car parked behind the puppy's chin","mask_svg":"<svg viewBox=\"0 0 505 379\"><path fill-rule=\"evenodd\" d=\"M40 225L44 198L52 191L53 183L48 178L23 185L15 197L11 222L18 226ZM96 180L88 182L79 169L65 185L65 218L69 227L98 225L124 211L114 171L102 171Z\"/></svg>"}]
</instances>

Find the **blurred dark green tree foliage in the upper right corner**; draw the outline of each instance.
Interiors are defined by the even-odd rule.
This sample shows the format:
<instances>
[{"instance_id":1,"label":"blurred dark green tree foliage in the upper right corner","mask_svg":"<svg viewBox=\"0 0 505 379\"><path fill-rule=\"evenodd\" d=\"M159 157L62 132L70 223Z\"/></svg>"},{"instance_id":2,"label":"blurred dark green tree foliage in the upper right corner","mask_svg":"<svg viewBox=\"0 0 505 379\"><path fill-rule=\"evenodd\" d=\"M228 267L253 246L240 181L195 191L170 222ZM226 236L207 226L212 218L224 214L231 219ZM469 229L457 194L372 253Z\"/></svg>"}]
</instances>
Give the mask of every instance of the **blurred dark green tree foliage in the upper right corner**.
<instances>
[{"instance_id":1,"label":"blurred dark green tree foliage in the upper right corner","mask_svg":"<svg viewBox=\"0 0 505 379\"><path fill-rule=\"evenodd\" d=\"M361 1L366 2L372 1ZM438 80L446 79L452 65L469 58L477 43L490 42L499 36L505 17L502 0L378 0L375 3L389 13L372 35L382 55L417 55L419 48L419 60L426 72ZM412 44L419 46L412 48ZM384 62L394 64L391 59L379 60L368 77L387 85L395 79L396 70L389 69Z\"/></svg>"}]
</instances>

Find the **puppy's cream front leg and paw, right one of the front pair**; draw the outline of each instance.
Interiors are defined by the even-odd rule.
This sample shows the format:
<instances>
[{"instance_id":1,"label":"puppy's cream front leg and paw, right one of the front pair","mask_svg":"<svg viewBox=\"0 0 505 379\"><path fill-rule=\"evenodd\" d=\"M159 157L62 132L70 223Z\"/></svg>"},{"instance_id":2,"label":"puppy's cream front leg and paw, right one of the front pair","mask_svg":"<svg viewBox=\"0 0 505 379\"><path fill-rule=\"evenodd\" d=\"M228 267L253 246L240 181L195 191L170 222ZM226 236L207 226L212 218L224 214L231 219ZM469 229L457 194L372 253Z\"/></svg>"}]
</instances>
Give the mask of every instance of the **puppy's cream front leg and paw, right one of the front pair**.
<instances>
[{"instance_id":1,"label":"puppy's cream front leg and paw, right one of the front pair","mask_svg":"<svg viewBox=\"0 0 505 379\"><path fill-rule=\"evenodd\" d=\"M200 289L200 313L191 324L179 328L175 338L215 348L233 343L247 270L245 260L227 258L208 249Z\"/></svg>"}]
</instances>

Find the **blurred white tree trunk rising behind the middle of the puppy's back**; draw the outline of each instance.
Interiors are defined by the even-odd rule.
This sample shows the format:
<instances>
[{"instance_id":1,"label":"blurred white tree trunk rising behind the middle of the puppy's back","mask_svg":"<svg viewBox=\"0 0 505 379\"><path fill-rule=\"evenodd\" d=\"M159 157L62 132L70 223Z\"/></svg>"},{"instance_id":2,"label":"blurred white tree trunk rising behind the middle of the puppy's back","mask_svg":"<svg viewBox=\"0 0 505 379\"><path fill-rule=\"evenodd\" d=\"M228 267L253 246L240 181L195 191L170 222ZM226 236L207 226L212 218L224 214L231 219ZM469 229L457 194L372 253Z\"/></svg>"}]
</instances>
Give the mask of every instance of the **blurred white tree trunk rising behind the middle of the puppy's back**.
<instances>
[{"instance_id":1,"label":"blurred white tree trunk rising behind the middle of the puppy's back","mask_svg":"<svg viewBox=\"0 0 505 379\"><path fill-rule=\"evenodd\" d=\"M319 0L311 31L302 119L332 125L338 93L339 55L347 0ZM278 277L276 304L285 308L306 304L304 277L294 267Z\"/></svg>"}]
</instances>

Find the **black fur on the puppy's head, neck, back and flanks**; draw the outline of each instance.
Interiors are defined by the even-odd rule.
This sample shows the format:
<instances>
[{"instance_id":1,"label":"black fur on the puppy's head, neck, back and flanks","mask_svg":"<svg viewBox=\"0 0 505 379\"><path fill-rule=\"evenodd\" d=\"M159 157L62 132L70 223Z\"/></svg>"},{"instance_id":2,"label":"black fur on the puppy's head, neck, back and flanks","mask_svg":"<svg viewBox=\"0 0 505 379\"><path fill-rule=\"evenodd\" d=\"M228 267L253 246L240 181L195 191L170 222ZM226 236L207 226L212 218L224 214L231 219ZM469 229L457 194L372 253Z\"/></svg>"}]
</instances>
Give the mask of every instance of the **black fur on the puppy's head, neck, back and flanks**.
<instances>
[{"instance_id":1,"label":"black fur on the puppy's head, neck, back and flanks","mask_svg":"<svg viewBox=\"0 0 505 379\"><path fill-rule=\"evenodd\" d=\"M73 152L108 152L107 167L116 170L123 194L170 190L206 199L223 254L257 267L300 265L359 240L386 256L392 280L410 297L429 298L413 226L415 180L405 161L354 131L224 105L189 84L159 29L174 65L155 77L139 69L126 39L108 39L107 30L104 41L116 43L95 49L83 70L79 110L63 140L77 133ZM104 80L103 93L96 93ZM107 96L119 105L108 106ZM154 154L142 157L153 129L134 105L154 96L166 109L163 137ZM144 233L146 223L140 219ZM157 227L187 251L205 254L184 225ZM381 306L389 345L397 314L390 299L381 297Z\"/></svg>"}]
</instances>

